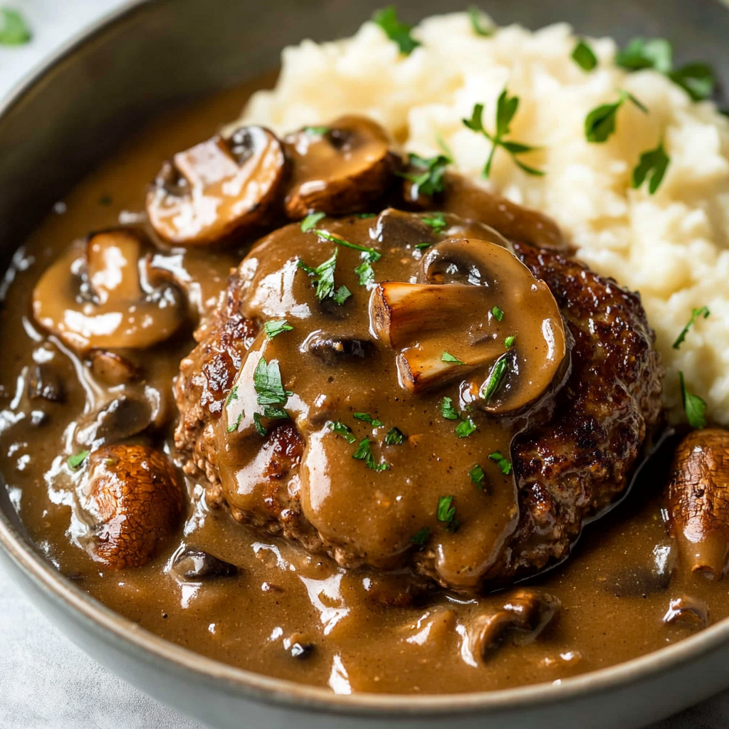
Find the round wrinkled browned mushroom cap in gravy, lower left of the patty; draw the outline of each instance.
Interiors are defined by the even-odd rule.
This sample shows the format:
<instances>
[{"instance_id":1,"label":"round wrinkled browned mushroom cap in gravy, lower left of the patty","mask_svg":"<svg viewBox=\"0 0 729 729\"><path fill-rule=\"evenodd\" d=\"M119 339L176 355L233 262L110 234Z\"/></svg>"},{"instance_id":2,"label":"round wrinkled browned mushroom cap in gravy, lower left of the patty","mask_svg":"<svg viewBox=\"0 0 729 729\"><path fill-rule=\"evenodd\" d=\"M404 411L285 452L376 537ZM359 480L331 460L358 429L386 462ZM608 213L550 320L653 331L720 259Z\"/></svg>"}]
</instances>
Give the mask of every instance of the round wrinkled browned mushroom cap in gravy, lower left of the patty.
<instances>
[{"instance_id":1,"label":"round wrinkled browned mushroom cap in gravy, lower left of the patty","mask_svg":"<svg viewBox=\"0 0 729 729\"><path fill-rule=\"evenodd\" d=\"M82 497L93 522L87 550L112 569L146 564L182 515L182 488L174 466L163 453L144 445L93 451Z\"/></svg>"}]
</instances>

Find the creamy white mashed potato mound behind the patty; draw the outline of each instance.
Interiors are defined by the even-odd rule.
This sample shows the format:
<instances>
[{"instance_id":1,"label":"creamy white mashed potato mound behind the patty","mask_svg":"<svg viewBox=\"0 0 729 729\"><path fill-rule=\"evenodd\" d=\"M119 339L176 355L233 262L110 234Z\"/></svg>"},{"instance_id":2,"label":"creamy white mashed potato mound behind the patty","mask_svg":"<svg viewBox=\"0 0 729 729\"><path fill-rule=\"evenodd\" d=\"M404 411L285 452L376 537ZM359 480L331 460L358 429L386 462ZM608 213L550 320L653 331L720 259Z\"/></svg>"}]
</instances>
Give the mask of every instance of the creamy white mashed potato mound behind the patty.
<instances>
[{"instance_id":1,"label":"creamy white mashed potato mound behind the patty","mask_svg":"<svg viewBox=\"0 0 729 729\"><path fill-rule=\"evenodd\" d=\"M536 33L519 26L477 36L465 13L429 17L413 31L421 41L409 56L381 28L364 23L352 38L304 41L284 50L273 91L254 95L243 119L278 132L367 114L402 148L419 155L451 149L456 168L517 203L555 218L590 266L642 295L666 365L666 404L680 416L678 372L729 424L729 120L711 102L694 103L655 71L629 74L614 63L612 39L591 39L599 58L582 71L577 42L565 24ZM521 104L510 139L540 147L523 161L545 171L529 176L502 149L491 179L480 178L490 143L464 127L484 104L494 129L504 87ZM617 132L605 144L585 141L585 116L625 89L644 114L626 103ZM663 139L671 163L655 195L631 187L642 152ZM708 306L679 351L671 344L691 316Z\"/></svg>"}]
</instances>

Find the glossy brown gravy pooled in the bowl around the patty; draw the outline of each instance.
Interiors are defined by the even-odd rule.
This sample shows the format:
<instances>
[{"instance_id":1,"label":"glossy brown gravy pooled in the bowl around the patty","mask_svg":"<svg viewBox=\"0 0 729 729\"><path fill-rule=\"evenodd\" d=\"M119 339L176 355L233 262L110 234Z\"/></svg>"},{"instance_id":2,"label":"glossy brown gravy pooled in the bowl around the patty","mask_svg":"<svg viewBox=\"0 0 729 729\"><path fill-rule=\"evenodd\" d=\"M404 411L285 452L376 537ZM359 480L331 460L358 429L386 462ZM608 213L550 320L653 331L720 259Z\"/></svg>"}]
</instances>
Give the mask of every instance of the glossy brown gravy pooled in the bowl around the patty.
<instances>
[{"instance_id":1,"label":"glossy brown gravy pooled in the bowl around the patty","mask_svg":"<svg viewBox=\"0 0 729 729\"><path fill-rule=\"evenodd\" d=\"M372 574L340 569L276 539L259 541L225 510L208 510L203 487L192 481L187 521L147 565L108 572L79 548L60 454L67 426L81 416L89 394L77 359L33 324L33 286L75 238L117 224L120 214L128 216L123 211L140 211L160 161L214 133L238 113L249 91L235 90L150 125L79 184L64 200L63 214L51 214L17 257L0 310L0 470L23 523L50 561L91 596L165 639L233 666L338 693L458 693L552 682L692 634L690 624L663 623L671 599L706 602L712 623L727 617L725 581L682 569L668 577L671 542L660 513L660 469L585 530L569 561L531 580L562 604L538 639L509 639L485 664L469 652L463 625L501 605L498 594L470 599L440 593L421 607L385 606L375 593L389 587ZM214 273L201 300L225 286L225 272L242 255L206 252L204 265ZM187 254L184 265L200 265L198 253ZM179 332L144 354L147 383L168 407L174 408L170 383L194 345L191 335ZM65 403L23 394L34 364L49 360L61 373ZM171 447L171 432L165 443ZM179 582L166 568L183 541L240 572L200 584ZM292 651L296 645L303 652Z\"/></svg>"}]
</instances>

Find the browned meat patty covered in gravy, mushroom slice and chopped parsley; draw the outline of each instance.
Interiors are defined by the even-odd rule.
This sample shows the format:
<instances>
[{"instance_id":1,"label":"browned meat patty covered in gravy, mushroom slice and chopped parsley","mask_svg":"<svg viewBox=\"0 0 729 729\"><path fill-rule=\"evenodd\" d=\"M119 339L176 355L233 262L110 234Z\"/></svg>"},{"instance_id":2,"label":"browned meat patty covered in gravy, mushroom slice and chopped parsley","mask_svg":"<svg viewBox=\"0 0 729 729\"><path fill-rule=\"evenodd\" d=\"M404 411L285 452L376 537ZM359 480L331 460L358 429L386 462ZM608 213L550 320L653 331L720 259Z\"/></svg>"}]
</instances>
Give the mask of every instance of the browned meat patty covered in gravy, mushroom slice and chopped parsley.
<instances>
[{"instance_id":1,"label":"browned meat patty covered in gravy, mushroom slice and chopped parsley","mask_svg":"<svg viewBox=\"0 0 729 729\"><path fill-rule=\"evenodd\" d=\"M515 245L521 265L455 216L319 227L257 243L182 361L176 445L208 502L343 566L406 564L458 590L564 557L658 420L639 297L554 252Z\"/></svg>"}]
</instances>

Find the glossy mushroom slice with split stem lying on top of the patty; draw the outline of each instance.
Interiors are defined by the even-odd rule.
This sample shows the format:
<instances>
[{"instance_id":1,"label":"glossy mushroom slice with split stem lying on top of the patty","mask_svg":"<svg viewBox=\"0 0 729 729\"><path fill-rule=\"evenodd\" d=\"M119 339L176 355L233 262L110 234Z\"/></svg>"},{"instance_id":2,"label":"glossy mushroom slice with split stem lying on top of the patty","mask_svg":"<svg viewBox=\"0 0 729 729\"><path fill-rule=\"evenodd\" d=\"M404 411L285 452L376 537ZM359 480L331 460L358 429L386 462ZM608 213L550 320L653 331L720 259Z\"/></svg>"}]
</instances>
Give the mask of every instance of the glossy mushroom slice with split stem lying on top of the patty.
<instances>
[{"instance_id":1,"label":"glossy mushroom slice with split stem lying on top of the patty","mask_svg":"<svg viewBox=\"0 0 729 729\"><path fill-rule=\"evenodd\" d=\"M564 373L557 303L506 248L469 239L437 243L418 278L378 284L370 295L370 327L397 351L404 389L418 393L469 378L462 399L505 413L541 397Z\"/></svg>"}]
</instances>

